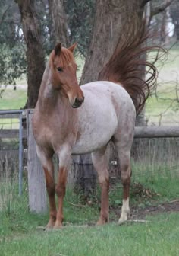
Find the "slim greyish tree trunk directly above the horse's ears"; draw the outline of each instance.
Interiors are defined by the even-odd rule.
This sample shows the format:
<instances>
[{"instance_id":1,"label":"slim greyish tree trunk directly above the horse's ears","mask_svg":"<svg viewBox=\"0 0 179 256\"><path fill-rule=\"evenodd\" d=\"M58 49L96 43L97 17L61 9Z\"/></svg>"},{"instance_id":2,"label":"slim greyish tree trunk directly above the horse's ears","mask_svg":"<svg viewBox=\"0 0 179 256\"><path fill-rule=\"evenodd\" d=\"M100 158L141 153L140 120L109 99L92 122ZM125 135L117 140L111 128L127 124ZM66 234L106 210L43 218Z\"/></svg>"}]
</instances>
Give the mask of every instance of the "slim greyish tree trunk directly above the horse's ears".
<instances>
[{"instance_id":1,"label":"slim greyish tree trunk directly above the horse's ears","mask_svg":"<svg viewBox=\"0 0 179 256\"><path fill-rule=\"evenodd\" d=\"M62 43L62 46L69 46L68 22L64 12L62 0L49 0L49 12L52 18L53 30L55 34L55 42Z\"/></svg>"}]
</instances>

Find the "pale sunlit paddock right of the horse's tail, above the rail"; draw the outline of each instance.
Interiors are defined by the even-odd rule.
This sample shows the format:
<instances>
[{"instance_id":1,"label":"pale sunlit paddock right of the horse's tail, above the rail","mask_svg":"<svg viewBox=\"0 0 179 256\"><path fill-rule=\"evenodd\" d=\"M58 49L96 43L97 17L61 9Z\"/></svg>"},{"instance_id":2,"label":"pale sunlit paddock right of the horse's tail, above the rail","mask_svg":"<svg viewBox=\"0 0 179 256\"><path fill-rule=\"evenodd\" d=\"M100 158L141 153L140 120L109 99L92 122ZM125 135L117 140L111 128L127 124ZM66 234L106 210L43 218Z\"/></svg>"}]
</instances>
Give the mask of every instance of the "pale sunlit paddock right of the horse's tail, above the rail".
<instances>
[{"instance_id":1,"label":"pale sunlit paddock right of the horse's tail, above the rail","mask_svg":"<svg viewBox=\"0 0 179 256\"><path fill-rule=\"evenodd\" d=\"M164 65L158 64L159 78L155 95L146 102L146 119L149 124L178 125L179 104L176 90L178 85L178 46L171 49Z\"/></svg>"}]
</instances>

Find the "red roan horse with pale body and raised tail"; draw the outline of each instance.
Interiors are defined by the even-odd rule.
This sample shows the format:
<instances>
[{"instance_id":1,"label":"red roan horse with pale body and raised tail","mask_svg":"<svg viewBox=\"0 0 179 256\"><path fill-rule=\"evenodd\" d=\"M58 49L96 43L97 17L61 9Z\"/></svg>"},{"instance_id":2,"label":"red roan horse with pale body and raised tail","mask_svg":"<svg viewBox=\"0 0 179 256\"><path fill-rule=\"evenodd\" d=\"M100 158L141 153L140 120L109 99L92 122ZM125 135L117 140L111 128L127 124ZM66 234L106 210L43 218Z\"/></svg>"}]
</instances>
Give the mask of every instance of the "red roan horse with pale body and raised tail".
<instances>
[{"instance_id":1,"label":"red roan horse with pale body and raised tail","mask_svg":"<svg viewBox=\"0 0 179 256\"><path fill-rule=\"evenodd\" d=\"M92 152L93 165L101 187L101 212L98 225L108 222L108 163L105 149L112 141L118 151L123 184L123 204L119 222L129 214L130 149L136 113L139 112L155 82L155 66L140 58L152 50L143 47L147 38L144 26L120 43L97 82L79 86L74 48L55 46L49 56L33 114L33 134L37 155L42 162L49 196L50 217L46 229L61 228L64 219L63 200L67 168L71 154ZM147 81L141 78L148 66ZM141 68L142 67L142 68ZM55 185L52 155L59 158L58 181ZM58 197L58 209L55 205Z\"/></svg>"}]
</instances>

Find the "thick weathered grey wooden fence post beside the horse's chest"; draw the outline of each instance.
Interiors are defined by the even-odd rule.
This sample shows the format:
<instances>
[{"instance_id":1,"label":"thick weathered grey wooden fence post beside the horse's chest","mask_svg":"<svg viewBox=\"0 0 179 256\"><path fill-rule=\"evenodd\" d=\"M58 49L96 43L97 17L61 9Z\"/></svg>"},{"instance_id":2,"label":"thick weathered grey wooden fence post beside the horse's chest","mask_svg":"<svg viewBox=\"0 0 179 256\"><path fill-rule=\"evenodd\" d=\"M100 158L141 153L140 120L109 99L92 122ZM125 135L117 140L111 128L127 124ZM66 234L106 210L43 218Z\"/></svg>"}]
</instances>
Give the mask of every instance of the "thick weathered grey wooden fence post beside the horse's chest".
<instances>
[{"instance_id":1,"label":"thick weathered grey wooden fence post beside the horse's chest","mask_svg":"<svg viewBox=\"0 0 179 256\"><path fill-rule=\"evenodd\" d=\"M42 165L36 155L36 142L33 137L32 116L33 111L27 110L27 139L28 139L28 188L30 212L46 213L46 183Z\"/></svg>"}]
</instances>

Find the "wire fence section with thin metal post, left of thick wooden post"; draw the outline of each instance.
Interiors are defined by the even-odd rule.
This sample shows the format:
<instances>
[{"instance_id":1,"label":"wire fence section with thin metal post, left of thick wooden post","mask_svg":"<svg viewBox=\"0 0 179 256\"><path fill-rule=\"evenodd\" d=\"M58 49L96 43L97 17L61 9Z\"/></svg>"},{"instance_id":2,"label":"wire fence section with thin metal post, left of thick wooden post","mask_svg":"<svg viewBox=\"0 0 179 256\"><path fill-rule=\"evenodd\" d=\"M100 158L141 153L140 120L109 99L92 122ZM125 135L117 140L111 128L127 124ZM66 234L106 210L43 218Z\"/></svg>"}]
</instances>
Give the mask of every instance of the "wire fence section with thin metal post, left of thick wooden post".
<instances>
[{"instance_id":1,"label":"wire fence section with thin metal post, left of thick wooden post","mask_svg":"<svg viewBox=\"0 0 179 256\"><path fill-rule=\"evenodd\" d=\"M24 169L23 132L24 110L0 111L0 177L18 173L19 194L22 194L22 174ZM17 176L17 175L16 175Z\"/></svg>"}]
</instances>

